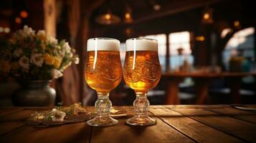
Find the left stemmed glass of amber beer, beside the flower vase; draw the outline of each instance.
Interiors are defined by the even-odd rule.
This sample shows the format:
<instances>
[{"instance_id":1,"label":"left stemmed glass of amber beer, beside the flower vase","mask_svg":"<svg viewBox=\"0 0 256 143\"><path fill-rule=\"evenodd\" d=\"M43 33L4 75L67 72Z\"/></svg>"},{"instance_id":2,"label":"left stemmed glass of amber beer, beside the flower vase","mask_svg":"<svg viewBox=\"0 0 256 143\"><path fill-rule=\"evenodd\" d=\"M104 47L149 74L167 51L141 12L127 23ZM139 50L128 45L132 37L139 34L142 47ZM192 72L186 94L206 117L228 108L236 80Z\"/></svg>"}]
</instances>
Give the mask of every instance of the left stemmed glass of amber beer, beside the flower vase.
<instances>
[{"instance_id":1,"label":"left stemmed glass of amber beer, beside the flower vase","mask_svg":"<svg viewBox=\"0 0 256 143\"><path fill-rule=\"evenodd\" d=\"M110 117L112 103L109 93L118 86L122 79L120 61L120 41L110 38L93 38L87 40L87 58L85 80L89 87L95 89L98 99L95 102L97 115L87 121L91 126L111 126L118 120Z\"/></svg>"}]
</instances>

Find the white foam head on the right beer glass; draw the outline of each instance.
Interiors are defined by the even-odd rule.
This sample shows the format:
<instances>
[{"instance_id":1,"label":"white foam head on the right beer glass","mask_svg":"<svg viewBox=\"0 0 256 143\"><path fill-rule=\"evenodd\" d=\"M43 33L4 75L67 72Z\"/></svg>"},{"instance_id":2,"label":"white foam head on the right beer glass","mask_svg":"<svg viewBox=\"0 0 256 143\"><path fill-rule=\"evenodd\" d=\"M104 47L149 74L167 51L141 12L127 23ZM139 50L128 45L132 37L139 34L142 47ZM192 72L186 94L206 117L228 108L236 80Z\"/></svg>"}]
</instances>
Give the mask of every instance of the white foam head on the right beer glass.
<instances>
[{"instance_id":1,"label":"white foam head on the right beer glass","mask_svg":"<svg viewBox=\"0 0 256 143\"><path fill-rule=\"evenodd\" d=\"M135 47L135 49L134 49ZM158 42L155 39L128 39L126 40L126 51L157 51Z\"/></svg>"}]
</instances>

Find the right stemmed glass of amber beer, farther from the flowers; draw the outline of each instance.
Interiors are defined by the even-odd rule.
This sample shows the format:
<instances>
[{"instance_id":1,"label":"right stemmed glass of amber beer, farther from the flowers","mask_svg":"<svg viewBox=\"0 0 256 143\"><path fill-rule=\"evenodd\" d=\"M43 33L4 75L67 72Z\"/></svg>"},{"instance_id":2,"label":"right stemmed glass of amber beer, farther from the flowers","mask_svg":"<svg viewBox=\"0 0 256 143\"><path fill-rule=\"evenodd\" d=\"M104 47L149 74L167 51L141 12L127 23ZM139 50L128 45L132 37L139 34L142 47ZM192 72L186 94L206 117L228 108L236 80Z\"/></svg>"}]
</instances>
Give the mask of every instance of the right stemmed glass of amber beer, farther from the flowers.
<instances>
[{"instance_id":1,"label":"right stemmed glass of amber beer, farther from the flowers","mask_svg":"<svg viewBox=\"0 0 256 143\"><path fill-rule=\"evenodd\" d=\"M155 39L126 40L123 77L125 83L136 92L136 100L133 102L136 115L126 123L136 126L156 124L154 119L148 117L149 102L146 97L148 90L156 87L161 78L158 42Z\"/></svg>"}]
</instances>

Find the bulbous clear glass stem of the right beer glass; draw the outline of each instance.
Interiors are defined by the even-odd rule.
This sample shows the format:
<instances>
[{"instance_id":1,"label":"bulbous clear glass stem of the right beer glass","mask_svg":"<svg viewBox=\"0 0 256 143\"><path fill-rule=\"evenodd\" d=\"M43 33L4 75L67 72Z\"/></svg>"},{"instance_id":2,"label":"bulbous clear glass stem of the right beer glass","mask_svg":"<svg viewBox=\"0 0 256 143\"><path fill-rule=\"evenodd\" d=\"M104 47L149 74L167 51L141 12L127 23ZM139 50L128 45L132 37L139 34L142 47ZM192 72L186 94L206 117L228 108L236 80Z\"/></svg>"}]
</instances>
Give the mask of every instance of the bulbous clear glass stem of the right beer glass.
<instances>
[{"instance_id":1,"label":"bulbous clear glass stem of the right beer glass","mask_svg":"<svg viewBox=\"0 0 256 143\"><path fill-rule=\"evenodd\" d=\"M146 94L136 93L136 100L133 102L133 107L138 116L148 116L149 101Z\"/></svg>"}]
</instances>

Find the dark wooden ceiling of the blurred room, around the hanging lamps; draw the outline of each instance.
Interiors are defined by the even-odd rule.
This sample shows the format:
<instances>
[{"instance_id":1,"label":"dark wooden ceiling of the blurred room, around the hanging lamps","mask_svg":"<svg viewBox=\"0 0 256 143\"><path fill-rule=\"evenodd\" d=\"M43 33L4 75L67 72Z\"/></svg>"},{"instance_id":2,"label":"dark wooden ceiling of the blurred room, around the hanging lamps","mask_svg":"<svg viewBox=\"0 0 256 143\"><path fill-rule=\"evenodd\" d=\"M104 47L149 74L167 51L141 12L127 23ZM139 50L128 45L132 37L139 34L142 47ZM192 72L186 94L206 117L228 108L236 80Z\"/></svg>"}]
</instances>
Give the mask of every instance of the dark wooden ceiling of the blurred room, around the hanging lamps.
<instances>
[{"instance_id":1,"label":"dark wooden ceiling of the blurred room, around the hanging lamps","mask_svg":"<svg viewBox=\"0 0 256 143\"><path fill-rule=\"evenodd\" d=\"M29 5L31 0L4 0L0 3L0 20L14 21L15 15L21 9L27 9L29 14L38 14L35 6ZM58 1L58 0L57 0ZM229 26L234 20L240 20L246 26L255 24L255 6L249 0L99 0L100 3L90 16L92 36L111 36L126 39L131 36L145 34L169 33L173 31L200 31L202 29L202 11L205 6L214 9L214 24L216 29L219 23ZM39 3L39 2L38 2ZM42 3L42 0L41 0ZM90 5L98 1L81 1L82 14L85 14ZM35 4L35 2L33 3ZM153 10L153 4L160 4L161 9ZM88 8L89 6L89 8ZM37 6L38 7L38 6ZM130 7L133 23L123 22L125 9ZM105 13L108 9L120 16L120 24L105 26L95 22L96 16ZM68 8L67 8L68 11ZM130 29L130 34L126 30Z\"/></svg>"}]
</instances>

